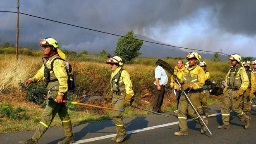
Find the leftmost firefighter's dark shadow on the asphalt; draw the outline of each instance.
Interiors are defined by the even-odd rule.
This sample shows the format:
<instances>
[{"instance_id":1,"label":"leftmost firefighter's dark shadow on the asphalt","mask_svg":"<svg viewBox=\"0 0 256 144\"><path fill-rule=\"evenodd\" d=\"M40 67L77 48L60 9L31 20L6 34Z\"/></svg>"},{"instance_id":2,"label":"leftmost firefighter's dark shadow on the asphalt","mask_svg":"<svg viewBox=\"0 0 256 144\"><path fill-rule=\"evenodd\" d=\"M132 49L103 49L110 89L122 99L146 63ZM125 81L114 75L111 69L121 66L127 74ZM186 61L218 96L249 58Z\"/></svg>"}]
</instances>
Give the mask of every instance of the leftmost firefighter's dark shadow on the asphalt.
<instances>
[{"instance_id":1,"label":"leftmost firefighter's dark shadow on the asphalt","mask_svg":"<svg viewBox=\"0 0 256 144\"><path fill-rule=\"evenodd\" d=\"M79 125L79 124L78 125L73 125L72 127L77 127L76 129L80 129L78 132L74 133L75 141L83 139L89 133L107 133L107 134L112 133L112 134L115 134L116 132L99 132L100 130L103 130L106 127L112 127L114 125L115 124L113 124L112 120L106 120L106 121L103 121L103 122L89 123L85 127L83 127L83 125ZM57 144L59 141L61 141L63 139L65 139L65 137L57 139L57 140L55 140L53 142L50 142L48 144Z\"/></svg>"}]
</instances>

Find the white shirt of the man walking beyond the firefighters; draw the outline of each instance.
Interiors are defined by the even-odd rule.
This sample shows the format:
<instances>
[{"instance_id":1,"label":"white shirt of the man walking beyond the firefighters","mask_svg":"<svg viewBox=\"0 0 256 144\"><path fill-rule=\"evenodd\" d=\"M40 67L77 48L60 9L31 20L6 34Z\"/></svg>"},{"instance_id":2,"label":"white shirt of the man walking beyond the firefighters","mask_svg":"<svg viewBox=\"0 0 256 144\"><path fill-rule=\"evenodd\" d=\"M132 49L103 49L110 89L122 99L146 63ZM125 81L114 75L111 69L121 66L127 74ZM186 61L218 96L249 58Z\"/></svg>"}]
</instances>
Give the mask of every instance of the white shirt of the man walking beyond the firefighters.
<instances>
[{"instance_id":1,"label":"white shirt of the man walking beyond the firefighters","mask_svg":"<svg viewBox=\"0 0 256 144\"><path fill-rule=\"evenodd\" d=\"M168 83L168 77L165 70L161 66L157 66L155 69L155 78L159 78L160 85L166 85ZM155 83L156 85L156 80Z\"/></svg>"}]
</instances>

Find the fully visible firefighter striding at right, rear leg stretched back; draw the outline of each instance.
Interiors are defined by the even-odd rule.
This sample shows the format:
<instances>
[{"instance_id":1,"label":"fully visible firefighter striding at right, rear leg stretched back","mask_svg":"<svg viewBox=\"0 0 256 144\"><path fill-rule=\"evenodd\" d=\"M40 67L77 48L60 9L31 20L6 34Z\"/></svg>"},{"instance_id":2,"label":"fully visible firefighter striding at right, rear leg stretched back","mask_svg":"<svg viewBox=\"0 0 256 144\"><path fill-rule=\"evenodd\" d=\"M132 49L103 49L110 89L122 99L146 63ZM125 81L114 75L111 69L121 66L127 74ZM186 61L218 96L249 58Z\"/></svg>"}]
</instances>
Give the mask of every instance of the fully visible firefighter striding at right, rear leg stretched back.
<instances>
[{"instance_id":1,"label":"fully visible firefighter striding at right, rear leg stretched back","mask_svg":"<svg viewBox=\"0 0 256 144\"><path fill-rule=\"evenodd\" d=\"M223 125L218 126L218 128L230 128L229 120L231 106L232 111L238 116L238 118L245 121L244 128L248 129L251 123L251 118L239 107L239 98L242 96L249 84L248 76L239 54L232 54L228 59L231 60L231 68L227 72L227 76L225 78L225 88L223 90L224 96L221 103Z\"/></svg>"}]
</instances>

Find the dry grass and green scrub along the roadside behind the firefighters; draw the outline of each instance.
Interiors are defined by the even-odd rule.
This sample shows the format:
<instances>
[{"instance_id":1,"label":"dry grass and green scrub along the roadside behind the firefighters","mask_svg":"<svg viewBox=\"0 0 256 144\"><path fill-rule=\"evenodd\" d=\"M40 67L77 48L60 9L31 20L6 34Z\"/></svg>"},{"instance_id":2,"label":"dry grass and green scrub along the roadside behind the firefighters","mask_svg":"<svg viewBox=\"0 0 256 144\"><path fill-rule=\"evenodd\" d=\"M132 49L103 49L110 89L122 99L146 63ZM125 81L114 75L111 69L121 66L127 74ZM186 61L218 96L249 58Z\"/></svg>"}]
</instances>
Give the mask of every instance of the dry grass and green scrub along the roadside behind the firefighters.
<instances>
[{"instance_id":1,"label":"dry grass and green scrub along the roadside behind the firefighters","mask_svg":"<svg viewBox=\"0 0 256 144\"><path fill-rule=\"evenodd\" d=\"M0 133L16 132L22 130L34 130L41 120L41 114L45 107L47 91L44 82L33 83L28 88L24 87L24 81L32 77L42 66L41 51L20 49L18 61L15 59L15 49L12 47L0 48ZM111 69L105 64L106 55L90 55L87 52L72 52L65 50L67 61L75 65L77 89L68 92L68 100L80 102L82 99L92 96L105 96L110 90ZM178 59L167 58L172 66ZM182 59L186 62L186 59ZM135 105L145 109L152 109L154 99L154 69L157 59L136 58L124 65L129 71L134 85L136 100ZM211 73L211 80L216 83L224 80L230 66L229 62L215 62L206 60L207 69ZM170 79L170 75L167 74ZM169 84L168 84L169 85ZM176 97L167 86L167 92L163 102L163 111L176 109ZM221 97L211 96L209 104L220 103ZM96 100L90 102L98 106L111 107L109 102ZM89 123L93 121L110 120L111 111L94 109L89 107L67 104L72 124ZM124 117L141 116L147 112L128 107ZM51 127L60 126L58 116L55 117Z\"/></svg>"}]
</instances>

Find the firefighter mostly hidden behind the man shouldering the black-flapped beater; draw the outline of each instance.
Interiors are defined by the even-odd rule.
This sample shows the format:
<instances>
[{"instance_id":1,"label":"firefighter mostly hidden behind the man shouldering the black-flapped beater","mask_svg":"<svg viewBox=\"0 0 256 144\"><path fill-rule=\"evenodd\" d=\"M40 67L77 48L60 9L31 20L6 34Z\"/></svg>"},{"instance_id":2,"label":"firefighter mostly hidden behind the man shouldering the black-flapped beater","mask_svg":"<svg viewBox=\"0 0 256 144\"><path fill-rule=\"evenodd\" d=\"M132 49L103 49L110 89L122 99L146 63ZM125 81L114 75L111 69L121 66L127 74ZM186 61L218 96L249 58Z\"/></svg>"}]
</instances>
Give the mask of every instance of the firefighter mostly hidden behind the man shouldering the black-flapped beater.
<instances>
[{"instance_id":1,"label":"firefighter mostly hidden behind the man shouldering the black-flapped beater","mask_svg":"<svg viewBox=\"0 0 256 144\"><path fill-rule=\"evenodd\" d=\"M205 116L207 117L209 115L207 100L210 96L210 93L209 93L209 90L210 90L209 87L211 85L211 81L209 80L210 79L210 73L206 70L207 65L206 65L205 61L200 61L199 66L201 66L201 68L203 68L205 79L204 79L204 86L202 87L203 92L200 93L199 104L197 106L197 111L201 116L203 116L203 110L202 110L202 107L203 107L203 109L205 111Z\"/></svg>"}]
</instances>

